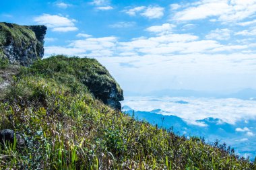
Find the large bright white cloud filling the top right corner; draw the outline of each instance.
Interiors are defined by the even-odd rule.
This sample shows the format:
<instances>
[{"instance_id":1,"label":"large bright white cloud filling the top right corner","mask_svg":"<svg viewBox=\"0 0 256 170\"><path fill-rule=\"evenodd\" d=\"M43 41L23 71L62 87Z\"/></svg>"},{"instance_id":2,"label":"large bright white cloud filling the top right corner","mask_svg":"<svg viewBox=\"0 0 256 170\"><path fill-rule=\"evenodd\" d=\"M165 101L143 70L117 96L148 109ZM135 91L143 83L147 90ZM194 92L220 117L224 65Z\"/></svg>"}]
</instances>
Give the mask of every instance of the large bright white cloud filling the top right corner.
<instances>
[{"instance_id":1,"label":"large bright white cloud filling the top right corner","mask_svg":"<svg viewBox=\"0 0 256 170\"><path fill-rule=\"evenodd\" d=\"M174 13L172 19L189 21L215 17L220 22L237 22L251 17L256 12L255 0L201 0L197 3L188 3L185 9Z\"/></svg>"}]
</instances>

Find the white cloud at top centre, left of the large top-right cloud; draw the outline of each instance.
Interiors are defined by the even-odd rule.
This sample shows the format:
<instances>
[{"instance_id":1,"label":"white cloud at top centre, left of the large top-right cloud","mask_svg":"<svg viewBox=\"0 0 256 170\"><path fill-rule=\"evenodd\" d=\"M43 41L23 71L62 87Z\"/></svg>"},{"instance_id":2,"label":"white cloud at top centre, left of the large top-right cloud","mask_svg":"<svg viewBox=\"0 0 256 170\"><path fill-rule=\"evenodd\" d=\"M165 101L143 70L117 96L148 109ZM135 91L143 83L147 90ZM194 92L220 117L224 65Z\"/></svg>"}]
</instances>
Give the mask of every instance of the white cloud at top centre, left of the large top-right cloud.
<instances>
[{"instance_id":1,"label":"white cloud at top centre, left of the large top-right cloud","mask_svg":"<svg viewBox=\"0 0 256 170\"><path fill-rule=\"evenodd\" d=\"M148 17L149 19L156 19L164 15L164 8L158 6L140 6L124 10L124 12L131 16L135 16L137 13L139 13L139 15L143 17Z\"/></svg>"}]
</instances>

